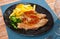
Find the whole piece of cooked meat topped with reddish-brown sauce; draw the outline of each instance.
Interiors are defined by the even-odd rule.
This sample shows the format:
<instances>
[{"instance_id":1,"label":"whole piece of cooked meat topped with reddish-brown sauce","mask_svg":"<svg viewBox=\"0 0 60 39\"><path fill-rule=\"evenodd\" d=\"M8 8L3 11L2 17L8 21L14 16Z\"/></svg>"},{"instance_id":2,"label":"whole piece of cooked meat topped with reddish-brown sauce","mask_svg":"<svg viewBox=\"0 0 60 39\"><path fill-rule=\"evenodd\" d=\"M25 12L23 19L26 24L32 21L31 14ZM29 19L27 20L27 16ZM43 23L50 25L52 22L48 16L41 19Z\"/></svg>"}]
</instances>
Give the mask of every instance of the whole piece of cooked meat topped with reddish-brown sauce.
<instances>
[{"instance_id":1,"label":"whole piece of cooked meat topped with reddish-brown sauce","mask_svg":"<svg viewBox=\"0 0 60 39\"><path fill-rule=\"evenodd\" d=\"M45 17L45 14L39 14L33 11L25 12L22 18L23 22L17 24L18 28L25 30L38 29L48 22L48 19Z\"/></svg>"}]
</instances>

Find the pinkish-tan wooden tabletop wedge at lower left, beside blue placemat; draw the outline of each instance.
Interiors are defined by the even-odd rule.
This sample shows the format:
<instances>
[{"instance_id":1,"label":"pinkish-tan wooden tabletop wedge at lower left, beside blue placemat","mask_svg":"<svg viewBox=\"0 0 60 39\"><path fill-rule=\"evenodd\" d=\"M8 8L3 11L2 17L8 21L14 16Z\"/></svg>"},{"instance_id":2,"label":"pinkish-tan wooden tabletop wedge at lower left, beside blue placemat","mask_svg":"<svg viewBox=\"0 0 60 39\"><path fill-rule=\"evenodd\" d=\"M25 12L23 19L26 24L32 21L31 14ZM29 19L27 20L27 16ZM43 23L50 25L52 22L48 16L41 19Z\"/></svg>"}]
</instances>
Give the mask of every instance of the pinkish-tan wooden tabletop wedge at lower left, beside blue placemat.
<instances>
[{"instance_id":1,"label":"pinkish-tan wooden tabletop wedge at lower left, beside blue placemat","mask_svg":"<svg viewBox=\"0 0 60 39\"><path fill-rule=\"evenodd\" d=\"M1 8L0 8L0 39L8 39L6 26L3 20Z\"/></svg>"}]
</instances>

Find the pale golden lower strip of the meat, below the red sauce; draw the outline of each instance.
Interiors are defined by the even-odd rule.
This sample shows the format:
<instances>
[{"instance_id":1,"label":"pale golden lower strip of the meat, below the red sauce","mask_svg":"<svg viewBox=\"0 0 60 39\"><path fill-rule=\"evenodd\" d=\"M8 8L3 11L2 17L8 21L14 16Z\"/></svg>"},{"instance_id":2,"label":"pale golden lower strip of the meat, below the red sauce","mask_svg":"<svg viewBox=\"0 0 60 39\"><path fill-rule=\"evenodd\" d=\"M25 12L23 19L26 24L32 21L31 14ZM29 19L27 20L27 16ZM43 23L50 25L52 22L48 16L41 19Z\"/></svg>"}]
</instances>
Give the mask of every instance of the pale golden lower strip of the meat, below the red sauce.
<instances>
[{"instance_id":1,"label":"pale golden lower strip of the meat, below the red sauce","mask_svg":"<svg viewBox=\"0 0 60 39\"><path fill-rule=\"evenodd\" d=\"M39 27L44 26L47 23L47 21L48 21L47 19L42 19L37 24L34 24L32 26L27 25L25 23L18 23L18 28L25 29L25 30L28 30L28 29L38 29Z\"/></svg>"}]
</instances>

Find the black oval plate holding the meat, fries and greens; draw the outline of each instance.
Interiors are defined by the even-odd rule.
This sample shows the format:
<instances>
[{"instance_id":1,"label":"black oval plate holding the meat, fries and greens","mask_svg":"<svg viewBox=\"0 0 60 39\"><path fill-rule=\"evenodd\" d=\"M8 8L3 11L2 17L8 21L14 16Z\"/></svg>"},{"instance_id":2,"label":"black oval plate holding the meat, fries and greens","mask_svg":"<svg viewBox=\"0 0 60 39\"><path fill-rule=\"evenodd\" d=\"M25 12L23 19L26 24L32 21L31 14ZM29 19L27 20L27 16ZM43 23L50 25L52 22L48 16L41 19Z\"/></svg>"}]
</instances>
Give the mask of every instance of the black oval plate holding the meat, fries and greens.
<instances>
[{"instance_id":1,"label":"black oval plate holding the meat, fries and greens","mask_svg":"<svg viewBox=\"0 0 60 39\"><path fill-rule=\"evenodd\" d=\"M20 4L20 3L19 3ZM39 34L42 34L42 33L45 33L47 32L48 30L50 30L52 27L53 27L53 24L54 24L54 20L53 20L53 17L52 15L50 14L50 12L48 10L46 10L44 7L40 6L40 5L37 5L37 4L33 4L33 3L23 3L23 4L31 4L32 6L33 5L36 5L36 11L39 12L39 13L43 13L43 14L46 14L47 15L47 19L48 19L48 23L46 25L44 25L43 27L40 27L39 29L37 30L24 30L24 29L15 29L10 23L10 19L9 19L9 15L12 13L12 11L15 9L16 5L17 4L14 4L14 5L11 5L10 7L8 7L6 9L6 11L4 12L3 14L3 17L4 17L4 21L5 21L5 24L11 28L13 31L15 32L18 32L20 34L23 34L23 35L28 35L28 36L35 36L35 35L39 35Z\"/></svg>"}]
</instances>

